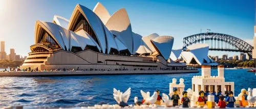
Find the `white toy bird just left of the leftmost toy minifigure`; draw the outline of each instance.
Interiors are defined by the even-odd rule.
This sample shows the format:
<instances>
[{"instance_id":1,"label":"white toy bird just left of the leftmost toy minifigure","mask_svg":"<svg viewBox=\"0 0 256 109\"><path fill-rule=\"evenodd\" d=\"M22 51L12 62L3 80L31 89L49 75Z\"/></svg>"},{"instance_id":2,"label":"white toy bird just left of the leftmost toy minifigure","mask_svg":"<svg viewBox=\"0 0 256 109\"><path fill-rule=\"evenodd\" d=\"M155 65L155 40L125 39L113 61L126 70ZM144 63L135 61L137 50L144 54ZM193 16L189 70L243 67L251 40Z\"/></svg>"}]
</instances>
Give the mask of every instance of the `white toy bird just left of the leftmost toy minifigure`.
<instances>
[{"instance_id":1,"label":"white toy bird just left of the leftmost toy minifigure","mask_svg":"<svg viewBox=\"0 0 256 109\"><path fill-rule=\"evenodd\" d=\"M145 103L154 104L157 101L157 92L154 92L154 94L151 97L150 92L145 93L142 90L140 90L140 93L143 99L145 100Z\"/></svg>"}]
</instances>

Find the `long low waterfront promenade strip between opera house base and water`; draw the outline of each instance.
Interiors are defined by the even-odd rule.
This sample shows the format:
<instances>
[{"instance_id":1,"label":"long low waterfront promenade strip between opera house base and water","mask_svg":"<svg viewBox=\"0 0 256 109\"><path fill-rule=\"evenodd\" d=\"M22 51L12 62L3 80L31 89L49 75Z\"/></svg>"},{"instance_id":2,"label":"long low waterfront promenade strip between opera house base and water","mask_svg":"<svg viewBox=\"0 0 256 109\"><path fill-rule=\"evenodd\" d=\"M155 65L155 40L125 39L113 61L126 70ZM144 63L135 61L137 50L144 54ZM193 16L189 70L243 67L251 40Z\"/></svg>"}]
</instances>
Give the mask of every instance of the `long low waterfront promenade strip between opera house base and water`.
<instances>
[{"instance_id":1,"label":"long low waterfront promenade strip between opera house base and water","mask_svg":"<svg viewBox=\"0 0 256 109\"><path fill-rule=\"evenodd\" d=\"M198 70L134 70L134 71L38 71L0 72L0 76L76 76L76 75L129 75L198 73Z\"/></svg>"}]
</instances>

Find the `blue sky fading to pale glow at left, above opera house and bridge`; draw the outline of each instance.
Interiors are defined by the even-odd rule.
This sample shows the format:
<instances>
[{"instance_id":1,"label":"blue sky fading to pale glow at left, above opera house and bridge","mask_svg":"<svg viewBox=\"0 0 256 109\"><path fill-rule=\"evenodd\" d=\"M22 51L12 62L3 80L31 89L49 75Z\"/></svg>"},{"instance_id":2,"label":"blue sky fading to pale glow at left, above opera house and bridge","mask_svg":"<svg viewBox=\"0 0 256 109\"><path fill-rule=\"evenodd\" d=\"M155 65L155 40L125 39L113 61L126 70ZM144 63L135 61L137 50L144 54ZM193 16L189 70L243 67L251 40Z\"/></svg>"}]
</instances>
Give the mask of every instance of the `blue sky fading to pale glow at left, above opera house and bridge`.
<instances>
[{"instance_id":1,"label":"blue sky fading to pale glow at left, above opera house and bridge","mask_svg":"<svg viewBox=\"0 0 256 109\"><path fill-rule=\"evenodd\" d=\"M0 0L0 40L6 41L6 52L27 55L34 44L36 20L52 21L54 14L70 19L76 4L93 9L102 3L113 14L125 8L132 30L146 36L151 33L174 37L173 49L183 46L183 37L205 32L229 34L252 43L254 0ZM2 5L1 5L2 4ZM238 55L238 52L210 51L209 55Z\"/></svg>"}]
</instances>

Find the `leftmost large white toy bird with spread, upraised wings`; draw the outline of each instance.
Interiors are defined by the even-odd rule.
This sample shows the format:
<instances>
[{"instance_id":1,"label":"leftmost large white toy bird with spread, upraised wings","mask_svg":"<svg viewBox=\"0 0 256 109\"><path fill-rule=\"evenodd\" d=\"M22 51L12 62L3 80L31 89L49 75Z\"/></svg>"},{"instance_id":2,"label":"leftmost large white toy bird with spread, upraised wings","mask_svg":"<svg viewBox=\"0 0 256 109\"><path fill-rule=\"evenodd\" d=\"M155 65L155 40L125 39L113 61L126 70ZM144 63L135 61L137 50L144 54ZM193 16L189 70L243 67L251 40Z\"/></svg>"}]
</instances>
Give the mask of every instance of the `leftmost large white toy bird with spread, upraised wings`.
<instances>
[{"instance_id":1,"label":"leftmost large white toy bird with spread, upraised wings","mask_svg":"<svg viewBox=\"0 0 256 109\"><path fill-rule=\"evenodd\" d=\"M113 89L113 95L116 102L121 106L128 106L127 101L131 95L131 88L127 89L124 93L120 92L120 90Z\"/></svg>"}]
</instances>

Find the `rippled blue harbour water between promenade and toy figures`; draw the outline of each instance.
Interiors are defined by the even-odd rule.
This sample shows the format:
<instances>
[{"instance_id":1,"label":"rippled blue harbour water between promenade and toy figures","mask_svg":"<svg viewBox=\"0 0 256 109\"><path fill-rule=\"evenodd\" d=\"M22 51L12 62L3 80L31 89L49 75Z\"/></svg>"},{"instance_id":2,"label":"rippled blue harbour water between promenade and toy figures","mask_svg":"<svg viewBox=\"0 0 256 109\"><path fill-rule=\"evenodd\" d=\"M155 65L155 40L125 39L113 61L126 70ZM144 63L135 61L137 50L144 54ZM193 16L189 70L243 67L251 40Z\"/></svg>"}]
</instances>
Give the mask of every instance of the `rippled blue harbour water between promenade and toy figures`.
<instances>
[{"instance_id":1,"label":"rippled blue harbour water between promenade and toy figures","mask_svg":"<svg viewBox=\"0 0 256 109\"><path fill-rule=\"evenodd\" d=\"M211 75L217 75L211 70ZM134 97L142 99L140 90L158 89L168 94L173 78L184 78L185 90L191 88L191 78L200 73L159 75L98 75L63 77L0 77L0 107L23 105L27 107L75 107L94 104L115 104L113 88L124 92L132 88L129 103ZM245 69L225 70L225 80L234 81L237 96L241 89L256 88L255 73ZM179 82L179 81L178 81Z\"/></svg>"}]
</instances>

